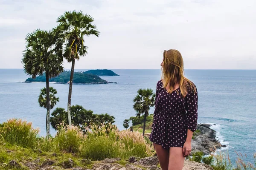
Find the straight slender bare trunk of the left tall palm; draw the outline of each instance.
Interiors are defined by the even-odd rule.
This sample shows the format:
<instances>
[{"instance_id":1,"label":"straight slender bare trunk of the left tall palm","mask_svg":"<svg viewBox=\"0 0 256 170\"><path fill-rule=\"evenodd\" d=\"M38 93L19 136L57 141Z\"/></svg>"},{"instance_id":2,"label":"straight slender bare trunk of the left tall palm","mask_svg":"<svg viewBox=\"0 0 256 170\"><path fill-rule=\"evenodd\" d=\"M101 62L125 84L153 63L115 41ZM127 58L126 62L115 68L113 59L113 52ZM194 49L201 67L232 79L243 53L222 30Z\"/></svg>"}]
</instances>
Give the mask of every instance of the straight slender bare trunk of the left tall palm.
<instances>
[{"instance_id":1,"label":"straight slender bare trunk of the left tall palm","mask_svg":"<svg viewBox=\"0 0 256 170\"><path fill-rule=\"evenodd\" d=\"M46 113L46 137L49 139L50 136L50 88L49 88L49 74L48 71L45 72L45 77L46 77L46 108L47 108L47 113Z\"/></svg>"}]
</instances>

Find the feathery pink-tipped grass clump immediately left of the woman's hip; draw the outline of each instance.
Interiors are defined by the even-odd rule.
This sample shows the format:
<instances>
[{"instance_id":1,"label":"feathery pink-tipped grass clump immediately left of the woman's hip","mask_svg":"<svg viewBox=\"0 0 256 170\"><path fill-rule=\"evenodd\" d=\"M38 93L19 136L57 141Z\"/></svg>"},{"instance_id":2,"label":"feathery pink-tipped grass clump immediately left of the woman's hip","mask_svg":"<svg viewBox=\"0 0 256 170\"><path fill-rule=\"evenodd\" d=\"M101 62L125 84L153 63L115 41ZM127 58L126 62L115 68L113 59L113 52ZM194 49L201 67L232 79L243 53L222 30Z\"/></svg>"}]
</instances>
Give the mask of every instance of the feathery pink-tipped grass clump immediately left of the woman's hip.
<instances>
[{"instance_id":1,"label":"feathery pink-tipped grass clump immediately left of the woman's hip","mask_svg":"<svg viewBox=\"0 0 256 170\"><path fill-rule=\"evenodd\" d=\"M137 156L144 158L154 155L154 147L151 143L147 143L139 132L122 130L119 132L119 140L124 144L124 158Z\"/></svg>"}]
</instances>

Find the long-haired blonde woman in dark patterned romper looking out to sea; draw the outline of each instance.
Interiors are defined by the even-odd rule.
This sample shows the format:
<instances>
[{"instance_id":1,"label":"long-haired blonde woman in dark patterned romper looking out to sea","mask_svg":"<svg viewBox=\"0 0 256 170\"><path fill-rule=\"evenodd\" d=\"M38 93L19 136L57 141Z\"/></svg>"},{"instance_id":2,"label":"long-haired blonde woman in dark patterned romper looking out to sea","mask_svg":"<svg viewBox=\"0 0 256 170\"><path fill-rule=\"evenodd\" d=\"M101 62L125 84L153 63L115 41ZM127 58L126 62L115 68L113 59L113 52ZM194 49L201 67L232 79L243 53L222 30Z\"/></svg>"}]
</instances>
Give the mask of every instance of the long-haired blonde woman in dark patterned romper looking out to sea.
<instances>
[{"instance_id":1,"label":"long-haired blonde woman in dark patterned romper looking out to sea","mask_svg":"<svg viewBox=\"0 0 256 170\"><path fill-rule=\"evenodd\" d=\"M198 94L184 77L179 51L163 52L162 79L157 82L154 122L150 135L163 170L182 170L191 152L197 125Z\"/></svg>"}]
</instances>

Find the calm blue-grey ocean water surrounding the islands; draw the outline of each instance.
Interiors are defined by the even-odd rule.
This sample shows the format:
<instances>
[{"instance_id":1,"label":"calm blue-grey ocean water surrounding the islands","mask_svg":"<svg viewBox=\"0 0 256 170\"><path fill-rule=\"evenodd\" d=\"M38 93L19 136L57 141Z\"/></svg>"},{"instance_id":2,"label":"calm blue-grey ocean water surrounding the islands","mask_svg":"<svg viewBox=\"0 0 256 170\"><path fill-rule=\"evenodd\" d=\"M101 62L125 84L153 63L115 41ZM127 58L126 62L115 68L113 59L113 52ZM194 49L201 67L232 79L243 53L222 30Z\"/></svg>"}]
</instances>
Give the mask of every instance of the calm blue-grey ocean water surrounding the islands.
<instances>
[{"instance_id":1,"label":"calm blue-grey ocean water surrounding the islands","mask_svg":"<svg viewBox=\"0 0 256 170\"><path fill-rule=\"evenodd\" d=\"M77 69L76 71L86 71ZM139 88L156 89L160 70L113 70L119 77L102 77L118 84L73 85L72 105L82 105L94 113L109 113L120 130L124 119L135 115L133 98ZM198 123L215 124L217 137L227 144L234 162L234 151L247 154L253 161L256 153L256 70L185 70L198 88ZM40 128L46 135L46 110L38 105L45 83L18 83L28 78L22 69L0 69L0 122L21 118ZM67 108L68 85L51 83L60 102ZM154 110L151 109L150 113ZM55 130L50 129L54 136Z\"/></svg>"}]
</instances>

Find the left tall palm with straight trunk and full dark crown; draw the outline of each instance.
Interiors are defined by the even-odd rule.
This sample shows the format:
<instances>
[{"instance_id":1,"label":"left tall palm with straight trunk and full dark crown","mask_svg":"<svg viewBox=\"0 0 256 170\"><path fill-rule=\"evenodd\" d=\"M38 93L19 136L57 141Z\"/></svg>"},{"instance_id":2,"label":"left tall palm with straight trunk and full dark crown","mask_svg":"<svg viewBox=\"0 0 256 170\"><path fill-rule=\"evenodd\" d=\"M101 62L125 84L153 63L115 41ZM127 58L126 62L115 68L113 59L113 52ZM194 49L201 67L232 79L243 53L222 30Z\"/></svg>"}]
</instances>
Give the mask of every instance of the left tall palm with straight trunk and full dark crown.
<instances>
[{"instance_id":1,"label":"left tall palm with straight trunk and full dark crown","mask_svg":"<svg viewBox=\"0 0 256 170\"><path fill-rule=\"evenodd\" d=\"M51 31L37 29L26 36L26 49L23 51L21 62L24 72L35 79L38 75L46 76L47 116L46 130L49 138L50 92L49 78L56 77L63 71L61 49L55 45L56 37Z\"/></svg>"}]
</instances>

